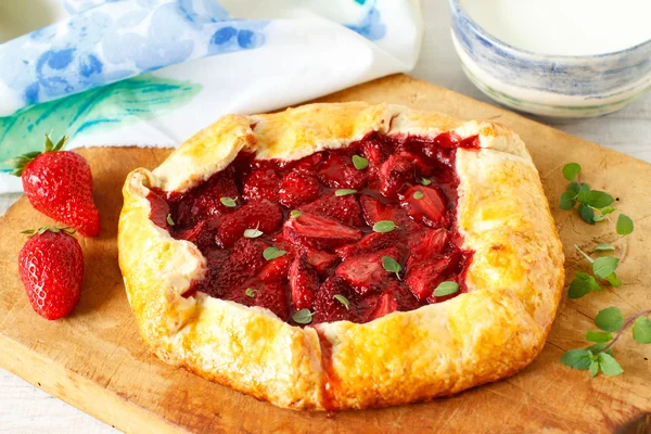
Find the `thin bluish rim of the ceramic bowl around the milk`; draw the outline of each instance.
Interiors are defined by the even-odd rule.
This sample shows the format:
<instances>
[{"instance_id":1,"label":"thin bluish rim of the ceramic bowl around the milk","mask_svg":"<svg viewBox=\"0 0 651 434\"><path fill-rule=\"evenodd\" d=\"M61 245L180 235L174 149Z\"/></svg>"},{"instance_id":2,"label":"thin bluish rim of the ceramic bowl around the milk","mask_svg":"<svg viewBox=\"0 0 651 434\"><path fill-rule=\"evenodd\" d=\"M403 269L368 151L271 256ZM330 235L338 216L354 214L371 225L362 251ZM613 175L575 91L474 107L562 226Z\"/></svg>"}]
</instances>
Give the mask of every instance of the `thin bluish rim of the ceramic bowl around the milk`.
<instances>
[{"instance_id":1,"label":"thin bluish rim of the ceramic bowl around the milk","mask_svg":"<svg viewBox=\"0 0 651 434\"><path fill-rule=\"evenodd\" d=\"M459 17L461 17L462 20L464 20L468 23L468 26L470 28L472 28L478 36L485 38L486 40L495 42L497 46L501 46L502 49L513 51L514 53L518 53L518 54L524 54L524 55L528 55L528 56L533 56L533 58L542 58L542 59L549 60L549 61L561 61L561 62L578 61L578 62L580 62L580 61L589 61L589 60L595 60L595 59L604 59L604 58L610 58L610 56L616 58L616 56L621 56L623 54L629 54L629 53L631 53L634 51L638 51L640 49L649 48L651 50L651 39L649 39L647 41L625 48L623 50L611 51L611 52L600 53L600 54L567 55L567 54L545 54L545 53L539 53L536 51L529 51L529 50L525 50L525 49L521 49L521 48L511 46L510 43L505 42L503 40L497 38L493 34L486 31L469 14L465 13L465 11L461 7L459 0L449 0L449 3L450 3L450 8L454 8L456 10L455 12L457 13L457 15ZM644 46L648 46L648 47L644 47Z\"/></svg>"}]
</instances>

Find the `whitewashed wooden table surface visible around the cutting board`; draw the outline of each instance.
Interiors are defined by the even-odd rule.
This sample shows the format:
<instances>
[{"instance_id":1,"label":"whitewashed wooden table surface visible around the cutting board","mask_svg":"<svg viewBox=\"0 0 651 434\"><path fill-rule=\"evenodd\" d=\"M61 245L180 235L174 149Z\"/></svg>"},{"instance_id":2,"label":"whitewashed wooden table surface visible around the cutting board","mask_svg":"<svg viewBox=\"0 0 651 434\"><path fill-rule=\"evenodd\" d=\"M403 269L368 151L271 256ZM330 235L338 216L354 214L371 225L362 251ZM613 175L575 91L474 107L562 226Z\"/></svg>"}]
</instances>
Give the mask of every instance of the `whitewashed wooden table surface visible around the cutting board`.
<instances>
[{"instance_id":1,"label":"whitewashed wooden table surface visible around the cutting board","mask_svg":"<svg viewBox=\"0 0 651 434\"><path fill-rule=\"evenodd\" d=\"M490 102L461 72L449 36L447 1L423 0L425 38L412 75ZM605 117L554 123L554 127L651 162L651 93ZM0 213L17 197L0 195ZM0 369L0 433L115 433L94 418Z\"/></svg>"}]
</instances>

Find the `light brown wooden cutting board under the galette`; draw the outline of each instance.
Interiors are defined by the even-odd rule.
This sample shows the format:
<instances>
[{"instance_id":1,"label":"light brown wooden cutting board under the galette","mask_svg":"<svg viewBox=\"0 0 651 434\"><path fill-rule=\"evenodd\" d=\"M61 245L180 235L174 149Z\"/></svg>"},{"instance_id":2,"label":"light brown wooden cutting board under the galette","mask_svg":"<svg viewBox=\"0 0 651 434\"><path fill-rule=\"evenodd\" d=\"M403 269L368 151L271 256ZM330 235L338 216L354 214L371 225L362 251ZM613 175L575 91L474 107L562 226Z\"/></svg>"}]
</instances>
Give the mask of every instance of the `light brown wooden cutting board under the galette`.
<instances>
[{"instance_id":1,"label":"light brown wooden cutting board under the galette","mask_svg":"<svg viewBox=\"0 0 651 434\"><path fill-rule=\"evenodd\" d=\"M576 212L558 208L566 186L561 167L570 161L580 163L586 181L617 195L616 207L635 220L618 270L624 285L563 301L540 356L510 379L430 404L383 410L336 414L282 410L148 355L125 296L115 237L125 176L136 167L154 168L169 151L85 149L79 153L92 167L102 232L97 239L79 238L86 276L81 302L69 318L48 322L38 317L17 276L16 258L25 242L20 230L53 221L34 210L25 197L0 218L0 366L130 433L608 433L651 411L651 345L633 342L630 332L614 349L625 370L620 376L590 380L586 371L558 361L564 350L586 345L583 336L596 329L599 310L616 305L629 315L651 307L651 292L644 286L651 264L651 165L404 75L320 101L350 100L490 118L520 132L540 171L570 277L588 268L574 243L590 251L599 242L612 241L614 233L607 224L590 227Z\"/></svg>"}]
</instances>

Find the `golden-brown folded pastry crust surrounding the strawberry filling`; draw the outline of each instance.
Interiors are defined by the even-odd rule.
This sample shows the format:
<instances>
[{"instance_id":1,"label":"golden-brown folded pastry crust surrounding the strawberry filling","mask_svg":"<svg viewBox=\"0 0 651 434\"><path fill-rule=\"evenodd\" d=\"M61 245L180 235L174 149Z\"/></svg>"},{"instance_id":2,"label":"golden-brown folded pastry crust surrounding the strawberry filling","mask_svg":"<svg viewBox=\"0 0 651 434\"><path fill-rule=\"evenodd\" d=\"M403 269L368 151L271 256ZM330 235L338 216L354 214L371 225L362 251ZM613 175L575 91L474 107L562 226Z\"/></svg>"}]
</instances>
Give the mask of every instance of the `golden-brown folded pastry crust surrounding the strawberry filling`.
<instances>
[{"instance_id":1,"label":"golden-brown folded pastry crust surrounding the strawberry filling","mask_svg":"<svg viewBox=\"0 0 651 434\"><path fill-rule=\"evenodd\" d=\"M252 126L254 127L252 129ZM298 328L271 311L197 293L206 260L149 218L150 187L183 191L241 151L296 159L346 146L370 131L478 135L459 149L459 231L475 252L468 293L369 323ZM119 266L151 352L206 379L288 408L341 410L432 399L511 375L540 352L563 286L563 254L538 173L508 128L399 105L311 104L225 116L155 170L124 186Z\"/></svg>"}]
</instances>

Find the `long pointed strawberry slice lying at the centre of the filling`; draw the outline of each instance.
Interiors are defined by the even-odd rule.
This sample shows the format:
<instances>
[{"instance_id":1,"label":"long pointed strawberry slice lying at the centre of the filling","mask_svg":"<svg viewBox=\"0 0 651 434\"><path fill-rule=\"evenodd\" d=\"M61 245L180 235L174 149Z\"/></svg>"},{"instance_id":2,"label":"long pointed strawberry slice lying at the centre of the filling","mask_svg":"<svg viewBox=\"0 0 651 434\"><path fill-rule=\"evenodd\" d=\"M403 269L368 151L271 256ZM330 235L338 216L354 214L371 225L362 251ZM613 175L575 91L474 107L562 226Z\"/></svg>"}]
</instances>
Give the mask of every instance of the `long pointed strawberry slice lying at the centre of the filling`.
<instances>
[{"instance_id":1,"label":"long pointed strawberry slice lying at the centre of the filling","mask_svg":"<svg viewBox=\"0 0 651 434\"><path fill-rule=\"evenodd\" d=\"M293 244L316 250L330 250L361 239L359 229L308 213L286 220L283 234Z\"/></svg>"}]
</instances>

